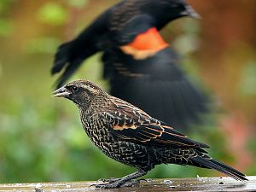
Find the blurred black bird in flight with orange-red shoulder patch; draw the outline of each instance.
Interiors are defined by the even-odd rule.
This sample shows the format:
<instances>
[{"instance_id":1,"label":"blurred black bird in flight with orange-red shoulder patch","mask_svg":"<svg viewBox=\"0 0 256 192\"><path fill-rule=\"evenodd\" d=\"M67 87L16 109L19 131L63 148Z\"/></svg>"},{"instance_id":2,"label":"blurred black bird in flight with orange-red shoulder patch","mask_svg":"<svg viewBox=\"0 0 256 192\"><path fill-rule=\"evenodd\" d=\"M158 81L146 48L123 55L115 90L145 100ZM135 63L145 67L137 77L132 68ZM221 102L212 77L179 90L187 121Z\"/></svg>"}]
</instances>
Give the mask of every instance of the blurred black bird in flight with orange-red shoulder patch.
<instances>
[{"instance_id":1,"label":"blurred black bird in flight with orange-red shoulder patch","mask_svg":"<svg viewBox=\"0 0 256 192\"><path fill-rule=\"evenodd\" d=\"M173 126L197 121L207 111L207 97L186 79L178 56L159 33L183 16L199 17L185 0L120 1L59 47L51 70L64 71L57 87L90 55L103 51L111 95Z\"/></svg>"}]
</instances>

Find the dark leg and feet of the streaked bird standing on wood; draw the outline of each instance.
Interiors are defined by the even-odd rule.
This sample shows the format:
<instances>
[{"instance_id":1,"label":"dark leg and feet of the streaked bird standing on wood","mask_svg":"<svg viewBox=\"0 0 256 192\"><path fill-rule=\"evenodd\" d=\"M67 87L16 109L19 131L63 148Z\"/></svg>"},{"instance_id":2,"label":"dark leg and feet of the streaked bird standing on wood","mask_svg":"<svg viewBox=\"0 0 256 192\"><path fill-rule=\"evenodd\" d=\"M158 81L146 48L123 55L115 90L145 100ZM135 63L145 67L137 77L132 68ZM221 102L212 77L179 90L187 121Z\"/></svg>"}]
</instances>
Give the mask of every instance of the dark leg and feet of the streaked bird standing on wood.
<instances>
[{"instance_id":1,"label":"dark leg and feet of the streaked bird standing on wood","mask_svg":"<svg viewBox=\"0 0 256 192\"><path fill-rule=\"evenodd\" d=\"M119 188L122 185L131 186L132 183L127 183L127 182L131 181L131 179L133 179L133 178L137 178L137 177L146 175L146 173L147 172L145 172L141 169L138 169L137 172L133 172L130 175L116 179L116 181L114 181L113 183L95 184L95 187L100 188L100 189L108 189L108 188ZM127 184L125 184L125 183L127 183Z\"/></svg>"}]
</instances>

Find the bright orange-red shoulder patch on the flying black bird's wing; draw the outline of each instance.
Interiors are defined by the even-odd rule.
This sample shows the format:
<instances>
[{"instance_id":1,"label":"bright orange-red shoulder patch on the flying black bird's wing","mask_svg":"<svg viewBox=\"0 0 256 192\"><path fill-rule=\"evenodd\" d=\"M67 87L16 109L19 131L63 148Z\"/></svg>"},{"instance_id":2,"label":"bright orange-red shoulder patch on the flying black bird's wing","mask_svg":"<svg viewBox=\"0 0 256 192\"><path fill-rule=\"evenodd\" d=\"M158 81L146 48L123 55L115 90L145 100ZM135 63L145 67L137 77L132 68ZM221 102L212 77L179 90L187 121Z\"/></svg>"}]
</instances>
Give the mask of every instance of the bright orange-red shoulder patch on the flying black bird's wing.
<instances>
[{"instance_id":1,"label":"bright orange-red shoulder patch on the flying black bird's wing","mask_svg":"<svg viewBox=\"0 0 256 192\"><path fill-rule=\"evenodd\" d=\"M168 47L168 44L160 36L155 27L143 32L130 43L121 46L120 49L127 55L132 55L135 60L144 60L154 55L161 49Z\"/></svg>"}]
</instances>

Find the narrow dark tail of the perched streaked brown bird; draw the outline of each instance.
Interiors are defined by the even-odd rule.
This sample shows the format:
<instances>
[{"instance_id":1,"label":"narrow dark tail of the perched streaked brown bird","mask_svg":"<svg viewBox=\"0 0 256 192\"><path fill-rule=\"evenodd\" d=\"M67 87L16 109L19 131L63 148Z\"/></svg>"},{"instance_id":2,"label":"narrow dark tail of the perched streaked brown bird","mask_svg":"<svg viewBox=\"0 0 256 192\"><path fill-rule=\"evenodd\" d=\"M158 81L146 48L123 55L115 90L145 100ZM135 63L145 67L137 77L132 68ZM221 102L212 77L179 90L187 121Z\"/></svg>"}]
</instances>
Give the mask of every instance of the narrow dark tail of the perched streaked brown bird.
<instances>
[{"instance_id":1,"label":"narrow dark tail of the perched streaked brown bird","mask_svg":"<svg viewBox=\"0 0 256 192\"><path fill-rule=\"evenodd\" d=\"M248 180L243 173L237 171L231 166L227 166L224 163L219 162L218 160L208 157L206 154L203 154L202 156L195 156L191 158L191 160L193 164L196 164L197 166L215 169L218 172L223 172L224 174L233 177L238 181Z\"/></svg>"}]
</instances>

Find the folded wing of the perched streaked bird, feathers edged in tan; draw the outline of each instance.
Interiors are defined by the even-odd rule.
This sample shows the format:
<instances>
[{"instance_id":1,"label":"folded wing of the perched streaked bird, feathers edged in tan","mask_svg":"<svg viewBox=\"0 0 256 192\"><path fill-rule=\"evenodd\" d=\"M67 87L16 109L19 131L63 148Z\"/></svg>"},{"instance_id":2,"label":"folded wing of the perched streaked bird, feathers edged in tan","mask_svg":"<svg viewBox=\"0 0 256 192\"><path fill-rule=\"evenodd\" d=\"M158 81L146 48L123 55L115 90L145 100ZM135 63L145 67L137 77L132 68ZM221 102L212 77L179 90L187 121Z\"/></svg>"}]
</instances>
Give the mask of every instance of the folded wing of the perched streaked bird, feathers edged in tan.
<instances>
[{"instance_id":1,"label":"folded wing of the perched streaked bird, feathers edged in tan","mask_svg":"<svg viewBox=\"0 0 256 192\"><path fill-rule=\"evenodd\" d=\"M104 115L111 124L110 133L119 140L165 147L208 148L206 144L189 139L128 102L118 98L113 101L111 109Z\"/></svg>"}]
</instances>

